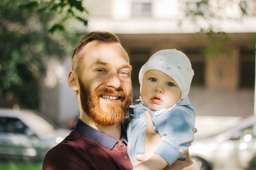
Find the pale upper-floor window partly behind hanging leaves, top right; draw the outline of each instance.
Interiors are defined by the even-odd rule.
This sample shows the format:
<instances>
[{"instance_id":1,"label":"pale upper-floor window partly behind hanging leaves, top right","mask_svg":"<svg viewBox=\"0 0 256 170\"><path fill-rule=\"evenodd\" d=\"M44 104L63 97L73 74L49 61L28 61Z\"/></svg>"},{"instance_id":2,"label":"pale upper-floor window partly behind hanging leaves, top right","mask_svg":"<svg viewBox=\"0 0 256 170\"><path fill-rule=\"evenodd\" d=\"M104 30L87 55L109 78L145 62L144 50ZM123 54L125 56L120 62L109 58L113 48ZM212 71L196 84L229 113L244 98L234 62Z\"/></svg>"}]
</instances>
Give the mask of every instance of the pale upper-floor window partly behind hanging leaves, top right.
<instances>
[{"instance_id":1,"label":"pale upper-floor window partly behind hanging leaves, top right","mask_svg":"<svg viewBox=\"0 0 256 170\"><path fill-rule=\"evenodd\" d=\"M209 16L209 3L208 0L202 1L187 1L186 2L186 15L200 15Z\"/></svg>"}]
</instances>

